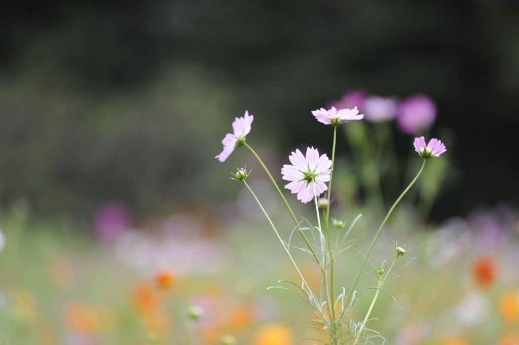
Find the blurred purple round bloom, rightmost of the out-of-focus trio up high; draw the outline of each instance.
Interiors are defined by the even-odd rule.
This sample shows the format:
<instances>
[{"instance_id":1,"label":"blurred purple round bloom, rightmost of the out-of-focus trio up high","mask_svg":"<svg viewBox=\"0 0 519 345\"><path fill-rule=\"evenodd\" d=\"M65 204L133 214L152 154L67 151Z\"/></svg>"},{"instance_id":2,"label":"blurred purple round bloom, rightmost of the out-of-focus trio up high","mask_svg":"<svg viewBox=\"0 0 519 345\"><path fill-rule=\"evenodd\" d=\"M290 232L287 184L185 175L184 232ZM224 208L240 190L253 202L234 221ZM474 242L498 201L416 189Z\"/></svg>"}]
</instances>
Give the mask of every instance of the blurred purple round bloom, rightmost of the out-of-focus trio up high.
<instances>
[{"instance_id":1,"label":"blurred purple round bloom, rightmost of the out-of-focus trio up high","mask_svg":"<svg viewBox=\"0 0 519 345\"><path fill-rule=\"evenodd\" d=\"M398 126L406 134L417 134L431 128L435 119L436 105L426 95L410 97L398 107Z\"/></svg>"}]
</instances>

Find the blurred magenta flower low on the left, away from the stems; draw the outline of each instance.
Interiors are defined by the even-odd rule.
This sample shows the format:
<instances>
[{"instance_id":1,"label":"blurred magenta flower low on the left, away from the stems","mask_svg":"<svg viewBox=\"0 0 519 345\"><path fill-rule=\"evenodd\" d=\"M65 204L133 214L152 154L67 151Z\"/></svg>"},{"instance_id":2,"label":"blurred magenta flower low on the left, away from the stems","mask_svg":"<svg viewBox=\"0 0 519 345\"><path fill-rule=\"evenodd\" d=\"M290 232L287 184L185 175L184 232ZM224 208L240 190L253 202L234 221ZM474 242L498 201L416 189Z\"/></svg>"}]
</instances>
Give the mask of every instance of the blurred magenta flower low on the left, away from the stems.
<instances>
[{"instance_id":1,"label":"blurred magenta flower low on the left, away from the stems","mask_svg":"<svg viewBox=\"0 0 519 345\"><path fill-rule=\"evenodd\" d=\"M115 201L102 204L94 214L95 234L106 241L116 240L123 232L130 229L133 220L130 211Z\"/></svg>"}]
</instances>

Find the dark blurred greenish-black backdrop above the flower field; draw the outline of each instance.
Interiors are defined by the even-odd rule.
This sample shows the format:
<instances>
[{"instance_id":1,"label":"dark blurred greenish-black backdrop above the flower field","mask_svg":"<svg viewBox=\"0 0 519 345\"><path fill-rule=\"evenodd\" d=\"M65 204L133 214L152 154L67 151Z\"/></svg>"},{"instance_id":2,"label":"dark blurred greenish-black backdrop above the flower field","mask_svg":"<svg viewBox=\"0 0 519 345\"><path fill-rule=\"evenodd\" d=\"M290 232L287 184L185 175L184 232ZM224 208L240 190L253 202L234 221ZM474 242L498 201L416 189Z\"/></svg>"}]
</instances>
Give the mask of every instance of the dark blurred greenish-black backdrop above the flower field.
<instances>
[{"instance_id":1,"label":"dark blurred greenish-black backdrop above the flower field","mask_svg":"<svg viewBox=\"0 0 519 345\"><path fill-rule=\"evenodd\" d=\"M519 203L518 2L0 0L0 204L234 198L244 150L213 157L235 116L255 115L248 142L280 162L330 152L310 111L359 88L436 102L452 167L434 218Z\"/></svg>"}]
</instances>

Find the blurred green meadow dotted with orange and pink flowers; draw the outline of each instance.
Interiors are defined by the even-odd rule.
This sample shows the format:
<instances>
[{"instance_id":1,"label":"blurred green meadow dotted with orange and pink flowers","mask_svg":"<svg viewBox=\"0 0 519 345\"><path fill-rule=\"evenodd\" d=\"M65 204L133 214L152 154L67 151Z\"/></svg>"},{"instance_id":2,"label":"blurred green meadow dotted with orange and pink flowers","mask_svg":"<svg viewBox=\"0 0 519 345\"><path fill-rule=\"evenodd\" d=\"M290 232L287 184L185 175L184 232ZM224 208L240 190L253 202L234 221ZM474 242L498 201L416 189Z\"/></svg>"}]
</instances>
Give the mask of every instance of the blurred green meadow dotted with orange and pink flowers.
<instances>
[{"instance_id":1,"label":"blurred green meadow dotted with orange and pink flowers","mask_svg":"<svg viewBox=\"0 0 519 345\"><path fill-rule=\"evenodd\" d=\"M297 279L267 223L238 206L247 202L148 219L112 241L67 218L38 222L23 205L6 212L0 342L184 344L192 326L194 344L218 344L224 335L254 345L325 340L301 327L315 316L305 303L286 291L267 291L271 280ZM298 211L310 210L301 205ZM335 213L351 221L364 211ZM288 237L291 219L282 211L272 217ZM376 230L374 218L367 212L352 231L360 250ZM518 219L516 210L500 205L429 225L403 205L371 259L392 259L397 240L412 248L405 258L416 260L387 287L401 308L381 297L372 314L379 320L370 328L395 345L519 343ZM304 254L294 255L318 289L319 269ZM337 289L350 287L360 261L354 251L339 256ZM371 268L365 270L359 291L376 285ZM350 316L363 318L372 294ZM195 322L186 316L193 305L203 310Z\"/></svg>"}]
</instances>

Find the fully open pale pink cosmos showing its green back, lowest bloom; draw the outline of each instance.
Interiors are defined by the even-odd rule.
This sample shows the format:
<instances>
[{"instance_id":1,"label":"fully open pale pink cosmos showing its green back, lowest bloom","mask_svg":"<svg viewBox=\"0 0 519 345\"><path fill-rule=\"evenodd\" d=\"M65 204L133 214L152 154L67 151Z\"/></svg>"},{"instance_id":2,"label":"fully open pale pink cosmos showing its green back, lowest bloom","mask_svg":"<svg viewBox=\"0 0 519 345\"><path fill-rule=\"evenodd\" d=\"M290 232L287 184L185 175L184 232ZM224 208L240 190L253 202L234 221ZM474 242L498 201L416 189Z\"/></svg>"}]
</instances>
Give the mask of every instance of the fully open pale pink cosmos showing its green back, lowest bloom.
<instances>
[{"instance_id":1,"label":"fully open pale pink cosmos showing its green back, lowest bloom","mask_svg":"<svg viewBox=\"0 0 519 345\"><path fill-rule=\"evenodd\" d=\"M316 196L328 189L325 182L330 181L332 161L326 155L319 157L317 149L308 147L306 157L297 149L289 159L294 165L283 165L281 174L283 180L292 181L285 188L297 193L297 200L307 203L313 199L314 188Z\"/></svg>"}]
</instances>

